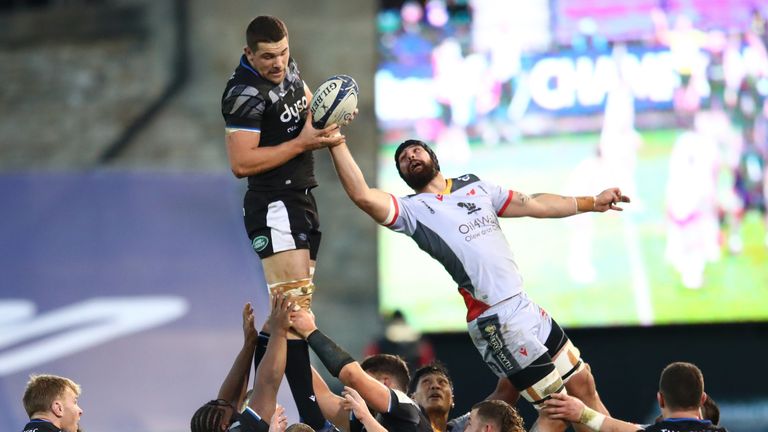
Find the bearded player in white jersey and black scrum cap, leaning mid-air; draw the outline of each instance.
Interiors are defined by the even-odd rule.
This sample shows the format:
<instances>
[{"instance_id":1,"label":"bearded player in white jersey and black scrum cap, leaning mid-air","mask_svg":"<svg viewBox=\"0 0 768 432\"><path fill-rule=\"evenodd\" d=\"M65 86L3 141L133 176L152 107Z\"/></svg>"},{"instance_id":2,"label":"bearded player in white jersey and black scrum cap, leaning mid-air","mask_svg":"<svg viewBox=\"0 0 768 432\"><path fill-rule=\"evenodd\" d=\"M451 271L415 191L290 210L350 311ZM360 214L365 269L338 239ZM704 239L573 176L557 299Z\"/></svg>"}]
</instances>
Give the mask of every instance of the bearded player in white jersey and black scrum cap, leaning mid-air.
<instances>
[{"instance_id":1,"label":"bearded player in white jersey and black scrum cap, leaning mid-air","mask_svg":"<svg viewBox=\"0 0 768 432\"><path fill-rule=\"evenodd\" d=\"M445 178L432 149L418 140L403 142L395 152L400 177L416 193L395 197L368 186L346 143L330 152L352 201L376 222L410 236L456 281L467 306L472 341L500 379L509 379L536 408L550 394L567 390L592 409L607 413L579 350L523 291L498 217L561 218L622 210L618 204L628 203L629 197L618 188L593 197L527 195L471 174ZM462 226L477 235L467 240ZM540 416L532 430L566 427L562 421Z\"/></svg>"}]
</instances>

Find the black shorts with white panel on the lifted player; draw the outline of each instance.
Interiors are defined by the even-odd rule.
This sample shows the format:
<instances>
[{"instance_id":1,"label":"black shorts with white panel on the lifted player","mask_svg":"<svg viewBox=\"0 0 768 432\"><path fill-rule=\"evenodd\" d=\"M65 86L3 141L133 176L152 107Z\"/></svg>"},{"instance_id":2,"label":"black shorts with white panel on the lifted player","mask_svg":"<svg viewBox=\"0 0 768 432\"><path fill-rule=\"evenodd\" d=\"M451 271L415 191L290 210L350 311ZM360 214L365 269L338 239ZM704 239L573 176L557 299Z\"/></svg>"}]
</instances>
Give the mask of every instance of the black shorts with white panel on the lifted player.
<instances>
[{"instance_id":1,"label":"black shorts with white panel on the lifted player","mask_svg":"<svg viewBox=\"0 0 768 432\"><path fill-rule=\"evenodd\" d=\"M278 252L309 249L317 259L320 219L310 189L248 190L243 199L245 230L260 258Z\"/></svg>"}]
</instances>

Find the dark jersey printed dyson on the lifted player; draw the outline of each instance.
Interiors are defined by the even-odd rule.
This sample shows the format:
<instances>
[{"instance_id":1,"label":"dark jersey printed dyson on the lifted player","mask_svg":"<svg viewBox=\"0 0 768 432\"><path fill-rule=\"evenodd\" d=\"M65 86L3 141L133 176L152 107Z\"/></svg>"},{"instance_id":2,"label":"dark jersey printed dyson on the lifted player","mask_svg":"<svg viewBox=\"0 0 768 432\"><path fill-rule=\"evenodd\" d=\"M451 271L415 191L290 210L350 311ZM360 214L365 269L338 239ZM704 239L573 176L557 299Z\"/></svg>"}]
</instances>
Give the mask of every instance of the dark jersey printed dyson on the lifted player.
<instances>
[{"instance_id":1,"label":"dark jersey printed dyson on the lifted player","mask_svg":"<svg viewBox=\"0 0 768 432\"><path fill-rule=\"evenodd\" d=\"M276 146L296 138L307 118L309 101L293 59L279 85L262 78L243 55L221 97L227 132L260 133L259 147ZM252 190L305 189L317 186L314 157L304 152L270 171L248 177Z\"/></svg>"}]
</instances>

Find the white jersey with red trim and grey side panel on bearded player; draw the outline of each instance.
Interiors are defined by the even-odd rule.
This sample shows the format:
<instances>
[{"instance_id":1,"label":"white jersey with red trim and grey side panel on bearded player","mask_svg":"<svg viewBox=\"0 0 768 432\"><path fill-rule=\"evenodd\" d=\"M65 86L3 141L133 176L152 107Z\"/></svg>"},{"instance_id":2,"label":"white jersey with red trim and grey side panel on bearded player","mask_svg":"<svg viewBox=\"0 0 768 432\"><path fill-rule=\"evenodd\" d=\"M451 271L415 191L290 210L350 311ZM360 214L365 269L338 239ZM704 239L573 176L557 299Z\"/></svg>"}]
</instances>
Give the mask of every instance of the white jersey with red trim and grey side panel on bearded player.
<instances>
[{"instance_id":1,"label":"white jersey with red trim and grey side panel on bearded player","mask_svg":"<svg viewBox=\"0 0 768 432\"><path fill-rule=\"evenodd\" d=\"M410 236L459 285L467 321L522 291L523 278L499 226L514 192L473 174L449 179L446 193L392 196L382 225Z\"/></svg>"}]
</instances>

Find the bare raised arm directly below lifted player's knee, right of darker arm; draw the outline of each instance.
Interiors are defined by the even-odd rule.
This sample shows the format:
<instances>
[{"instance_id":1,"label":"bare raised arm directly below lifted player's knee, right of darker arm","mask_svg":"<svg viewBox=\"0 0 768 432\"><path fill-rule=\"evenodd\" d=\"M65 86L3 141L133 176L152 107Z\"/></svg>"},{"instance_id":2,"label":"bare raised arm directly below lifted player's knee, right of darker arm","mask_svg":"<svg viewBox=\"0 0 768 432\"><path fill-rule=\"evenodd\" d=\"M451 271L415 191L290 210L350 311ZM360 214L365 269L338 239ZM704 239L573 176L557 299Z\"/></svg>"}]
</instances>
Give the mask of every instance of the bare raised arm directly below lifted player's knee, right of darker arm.
<instances>
[{"instance_id":1,"label":"bare raised arm directly below lifted player's knee, right of darker arm","mask_svg":"<svg viewBox=\"0 0 768 432\"><path fill-rule=\"evenodd\" d=\"M268 327L271 333L267 352L261 359L253 383L250 407L261 418L271 418L277 401L277 391L285 373L288 329L291 327L292 303L284 295L274 296Z\"/></svg>"}]
</instances>

